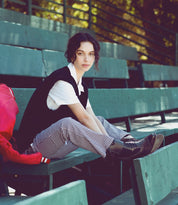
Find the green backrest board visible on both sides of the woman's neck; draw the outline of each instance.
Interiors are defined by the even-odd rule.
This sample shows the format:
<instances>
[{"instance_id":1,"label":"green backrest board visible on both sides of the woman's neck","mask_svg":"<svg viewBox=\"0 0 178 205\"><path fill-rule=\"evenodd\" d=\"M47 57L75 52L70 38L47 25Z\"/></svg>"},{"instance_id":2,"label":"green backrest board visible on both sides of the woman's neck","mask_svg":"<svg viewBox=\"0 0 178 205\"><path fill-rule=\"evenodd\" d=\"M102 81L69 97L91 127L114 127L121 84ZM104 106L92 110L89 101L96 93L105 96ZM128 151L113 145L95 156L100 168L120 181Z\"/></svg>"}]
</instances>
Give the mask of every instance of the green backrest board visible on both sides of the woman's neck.
<instances>
[{"instance_id":1,"label":"green backrest board visible on both sides of the woman's neck","mask_svg":"<svg viewBox=\"0 0 178 205\"><path fill-rule=\"evenodd\" d=\"M47 75L51 74L58 68L68 65L64 52L43 50L42 53ZM128 79L127 62L121 59L101 57L99 61L99 71L92 67L85 73L84 77Z\"/></svg>"}]
</instances>

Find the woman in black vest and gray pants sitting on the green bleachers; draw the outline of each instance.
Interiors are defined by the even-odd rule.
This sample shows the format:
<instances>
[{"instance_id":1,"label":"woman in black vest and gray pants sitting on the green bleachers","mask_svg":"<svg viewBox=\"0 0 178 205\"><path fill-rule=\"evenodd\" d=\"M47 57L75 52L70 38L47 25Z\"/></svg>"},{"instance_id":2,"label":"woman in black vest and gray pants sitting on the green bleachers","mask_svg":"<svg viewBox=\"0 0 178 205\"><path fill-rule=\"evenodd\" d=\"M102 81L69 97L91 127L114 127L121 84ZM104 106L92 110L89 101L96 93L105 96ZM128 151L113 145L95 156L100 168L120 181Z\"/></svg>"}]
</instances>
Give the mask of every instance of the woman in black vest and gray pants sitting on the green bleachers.
<instances>
[{"instance_id":1,"label":"woman in black vest and gray pants sitting on the green bleachers","mask_svg":"<svg viewBox=\"0 0 178 205\"><path fill-rule=\"evenodd\" d=\"M88 33L69 39L65 56L69 65L53 72L34 92L24 114L17 139L21 152L41 152L62 158L78 147L100 154L133 159L155 151L162 135L143 140L96 117L82 76L93 64L97 68L99 44Z\"/></svg>"}]
</instances>

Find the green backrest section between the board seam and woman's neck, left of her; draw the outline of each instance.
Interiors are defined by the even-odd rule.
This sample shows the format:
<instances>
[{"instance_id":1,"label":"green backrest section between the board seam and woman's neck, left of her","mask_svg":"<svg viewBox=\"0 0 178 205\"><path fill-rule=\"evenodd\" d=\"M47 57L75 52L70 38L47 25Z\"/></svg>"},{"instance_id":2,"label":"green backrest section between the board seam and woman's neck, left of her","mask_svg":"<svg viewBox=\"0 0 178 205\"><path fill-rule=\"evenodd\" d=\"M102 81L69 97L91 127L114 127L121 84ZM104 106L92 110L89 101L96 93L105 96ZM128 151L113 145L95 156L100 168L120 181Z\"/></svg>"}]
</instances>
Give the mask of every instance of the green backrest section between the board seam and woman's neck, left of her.
<instances>
[{"instance_id":1,"label":"green backrest section between the board seam and woman's neck, left of her","mask_svg":"<svg viewBox=\"0 0 178 205\"><path fill-rule=\"evenodd\" d=\"M43 50L42 54L47 76L53 71L68 65L64 52Z\"/></svg>"}]
</instances>

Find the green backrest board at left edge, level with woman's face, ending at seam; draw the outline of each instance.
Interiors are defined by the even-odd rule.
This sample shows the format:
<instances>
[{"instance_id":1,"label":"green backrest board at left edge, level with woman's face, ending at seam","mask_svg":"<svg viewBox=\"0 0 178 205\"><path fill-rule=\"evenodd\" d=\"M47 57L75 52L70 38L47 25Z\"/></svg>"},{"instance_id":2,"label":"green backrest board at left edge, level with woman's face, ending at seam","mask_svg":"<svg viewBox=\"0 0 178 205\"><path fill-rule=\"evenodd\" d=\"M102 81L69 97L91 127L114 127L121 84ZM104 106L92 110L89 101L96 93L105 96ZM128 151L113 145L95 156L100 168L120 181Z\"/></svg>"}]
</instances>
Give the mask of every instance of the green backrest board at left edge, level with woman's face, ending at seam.
<instances>
[{"instance_id":1,"label":"green backrest board at left edge, level with woman's face, ending at seam","mask_svg":"<svg viewBox=\"0 0 178 205\"><path fill-rule=\"evenodd\" d=\"M41 52L0 44L0 74L43 77Z\"/></svg>"}]
</instances>

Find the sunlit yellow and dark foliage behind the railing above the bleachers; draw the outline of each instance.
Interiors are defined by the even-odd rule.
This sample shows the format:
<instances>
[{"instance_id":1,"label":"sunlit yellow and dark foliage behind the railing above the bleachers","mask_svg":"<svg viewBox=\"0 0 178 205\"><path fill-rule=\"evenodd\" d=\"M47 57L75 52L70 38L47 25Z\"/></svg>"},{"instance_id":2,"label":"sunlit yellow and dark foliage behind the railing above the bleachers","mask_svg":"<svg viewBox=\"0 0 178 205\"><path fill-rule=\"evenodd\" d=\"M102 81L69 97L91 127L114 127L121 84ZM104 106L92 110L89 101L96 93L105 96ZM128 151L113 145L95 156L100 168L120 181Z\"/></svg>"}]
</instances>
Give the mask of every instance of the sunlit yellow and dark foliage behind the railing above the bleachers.
<instances>
[{"instance_id":1,"label":"sunlit yellow and dark foliage behind the railing above the bleachers","mask_svg":"<svg viewBox=\"0 0 178 205\"><path fill-rule=\"evenodd\" d=\"M27 14L28 1L18 2L21 4L17 6L15 0L5 1L5 8ZM99 40L137 47L145 59L157 55L155 50L160 54L166 53L167 57L162 55L158 57L159 61L173 64L169 56L173 56L175 51L178 0L32 0L32 4L33 15L89 27Z\"/></svg>"}]
</instances>

